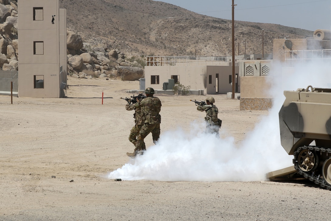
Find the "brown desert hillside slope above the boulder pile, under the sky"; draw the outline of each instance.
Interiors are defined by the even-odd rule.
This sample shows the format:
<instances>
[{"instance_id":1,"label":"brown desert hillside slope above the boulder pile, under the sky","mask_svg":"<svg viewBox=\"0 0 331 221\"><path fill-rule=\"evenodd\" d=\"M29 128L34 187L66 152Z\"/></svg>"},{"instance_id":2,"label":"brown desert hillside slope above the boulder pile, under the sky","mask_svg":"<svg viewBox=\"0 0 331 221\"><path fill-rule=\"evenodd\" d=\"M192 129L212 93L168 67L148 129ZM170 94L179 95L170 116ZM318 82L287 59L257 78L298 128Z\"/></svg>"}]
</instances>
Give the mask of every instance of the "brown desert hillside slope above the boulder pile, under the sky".
<instances>
[{"instance_id":1,"label":"brown desert hillside slope above the boulder pile, under the sky","mask_svg":"<svg viewBox=\"0 0 331 221\"><path fill-rule=\"evenodd\" d=\"M67 25L92 45L126 55L231 56L231 20L200 15L152 0L60 0ZM313 31L275 24L235 21L235 53L272 53L274 38L305 38Z\"/></svg>"}]
</instances>

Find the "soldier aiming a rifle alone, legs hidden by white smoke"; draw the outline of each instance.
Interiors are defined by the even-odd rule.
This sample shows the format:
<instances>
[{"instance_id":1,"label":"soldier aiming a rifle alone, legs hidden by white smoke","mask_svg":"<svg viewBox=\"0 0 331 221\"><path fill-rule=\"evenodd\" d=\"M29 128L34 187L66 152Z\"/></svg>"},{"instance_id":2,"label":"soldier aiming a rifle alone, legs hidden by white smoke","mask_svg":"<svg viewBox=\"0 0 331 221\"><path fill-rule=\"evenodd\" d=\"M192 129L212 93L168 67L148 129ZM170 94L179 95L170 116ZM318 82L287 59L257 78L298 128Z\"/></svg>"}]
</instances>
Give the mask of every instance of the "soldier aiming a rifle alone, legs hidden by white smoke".
<instances>
[{"instance_id":1,"label":"soldier aiming a rifle alone, legs hidden by white smoke","mask_svg":"<svg viewBox=\"0 0 331 221\"><path fill-rule=\"evenodd\" d=\"M206 123L207 131L211 133L219 134L219 128L221 121L218 120L218 109L214 105L215 99L213 97L208 97L206 99L206 105L199 104L197 107L198 111L206 111Z\"/></svg>"}]
</instances>

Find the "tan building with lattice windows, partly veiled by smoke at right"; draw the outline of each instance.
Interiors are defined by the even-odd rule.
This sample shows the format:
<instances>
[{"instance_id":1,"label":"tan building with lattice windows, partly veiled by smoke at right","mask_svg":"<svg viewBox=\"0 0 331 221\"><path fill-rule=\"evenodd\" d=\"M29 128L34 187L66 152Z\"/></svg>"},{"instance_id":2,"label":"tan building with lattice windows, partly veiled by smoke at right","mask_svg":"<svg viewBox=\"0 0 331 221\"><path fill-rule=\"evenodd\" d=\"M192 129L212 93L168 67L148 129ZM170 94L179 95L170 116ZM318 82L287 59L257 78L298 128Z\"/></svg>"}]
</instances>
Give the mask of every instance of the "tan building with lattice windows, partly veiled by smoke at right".
<instances>
[{"instance_id":1,"label":"tan building with lattice windows, partly veiled by smoke at right","mask_svg":"<svg viewBox=\"0 0 331 221\"><path fill-rule=\"evenodd\" d=\"M322 37L320 37L322 36ZM296 65L302 65L315 59L331 58L331 36L329 30L316 30L314 39L274 39L273 60L240 62L241 94L240 110L268 110L272 107L272 87L277 78L286 81Z\"/></svg>"}]
</instances>

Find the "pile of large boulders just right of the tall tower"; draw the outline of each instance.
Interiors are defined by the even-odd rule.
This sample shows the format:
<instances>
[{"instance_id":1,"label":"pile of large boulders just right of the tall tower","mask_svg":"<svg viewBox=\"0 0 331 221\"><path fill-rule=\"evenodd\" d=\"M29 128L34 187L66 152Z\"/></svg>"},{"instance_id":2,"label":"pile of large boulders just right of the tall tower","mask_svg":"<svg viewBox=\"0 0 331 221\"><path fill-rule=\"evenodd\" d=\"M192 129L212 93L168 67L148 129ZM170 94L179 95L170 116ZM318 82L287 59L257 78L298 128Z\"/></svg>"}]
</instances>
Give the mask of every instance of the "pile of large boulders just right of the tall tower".
<instances>
[{"instance_id":1,"label":"pile of large boulders just right of the tall tower","mask_svg":"<svg viewBox=\"0 0 331 221\"><path fill-rule=\"evenodd\" d=\"M92 46L82 38L67 31L68 73L77 78L108 77L136 81L144 76L143 67L125 59L118 49Z\"/></svg>"}]
</instances>

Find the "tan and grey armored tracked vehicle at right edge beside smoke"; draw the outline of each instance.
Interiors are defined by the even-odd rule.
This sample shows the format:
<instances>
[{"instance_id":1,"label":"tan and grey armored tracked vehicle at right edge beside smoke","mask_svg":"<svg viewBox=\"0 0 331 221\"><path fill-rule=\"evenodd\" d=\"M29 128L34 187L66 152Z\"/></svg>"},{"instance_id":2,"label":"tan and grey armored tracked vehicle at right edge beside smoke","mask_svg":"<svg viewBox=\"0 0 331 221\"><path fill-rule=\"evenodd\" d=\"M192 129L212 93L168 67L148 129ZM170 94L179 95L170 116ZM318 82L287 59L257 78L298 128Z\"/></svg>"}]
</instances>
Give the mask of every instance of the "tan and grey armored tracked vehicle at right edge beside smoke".
<instances>
[{"instance_id":1,"label":"tan and grey armored tracked vehicle at right edge beside smoke","mask_svg":"<svg viewBox=\"0 0 331 221\"><path fill-rule=\"evenodd\" d=\"M284 91L279 111L281 145L293 155L294 168L331 190L331 89Z\"/></svg>"}]
</instances>

